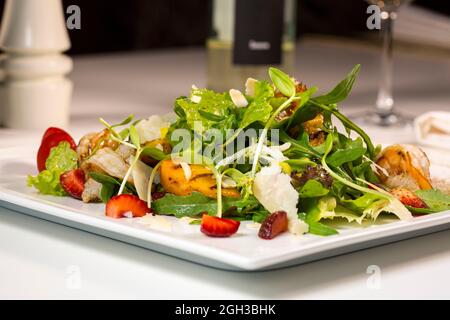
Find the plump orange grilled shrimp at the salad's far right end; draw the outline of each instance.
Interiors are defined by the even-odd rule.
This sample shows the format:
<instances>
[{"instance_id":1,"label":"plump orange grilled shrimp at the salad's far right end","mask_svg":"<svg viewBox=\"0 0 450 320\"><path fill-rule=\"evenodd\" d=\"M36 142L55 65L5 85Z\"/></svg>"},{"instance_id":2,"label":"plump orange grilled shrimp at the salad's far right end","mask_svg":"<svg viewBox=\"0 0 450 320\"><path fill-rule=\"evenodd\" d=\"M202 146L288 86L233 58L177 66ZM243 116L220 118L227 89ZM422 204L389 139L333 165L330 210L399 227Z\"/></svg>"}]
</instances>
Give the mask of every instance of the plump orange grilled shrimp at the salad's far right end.
<instances>
[{"instance_id":1,"label":"plump orange grilled shrimp at the salad's far right end","mask_svg":"<svg viewBox=\"0 0 450 320\"><path fill-rule=\"evenodd\" d=\"M432 189L430 161L422 149L408 144L394 144L381 151L376 160L383 172L378 173L388 188L411 191Z\"/></svg>"}]
</instances>

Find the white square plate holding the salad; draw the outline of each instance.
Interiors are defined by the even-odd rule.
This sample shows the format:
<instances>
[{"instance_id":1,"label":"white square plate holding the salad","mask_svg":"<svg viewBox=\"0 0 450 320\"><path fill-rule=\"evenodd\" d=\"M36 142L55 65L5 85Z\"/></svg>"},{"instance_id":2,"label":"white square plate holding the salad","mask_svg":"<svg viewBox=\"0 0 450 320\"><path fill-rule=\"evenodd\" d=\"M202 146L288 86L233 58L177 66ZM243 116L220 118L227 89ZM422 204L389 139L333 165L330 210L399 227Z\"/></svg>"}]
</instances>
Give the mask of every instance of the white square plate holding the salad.
<instances>
[{"instance_id":1,"label":"white square plate holding the salad","mask_svg":"<svg viewBox=\"0 0 450 320\"><path fill-rule=\"evenodd\" d=\"M432 167L432 172L446 168ZM199 226L172 217L164 227L150 228L139 219L111 219L103 204L84 204L69 197L43 196L26 186L34 173L32 149L0 149L0 206L141 246L181 259L227 270L256 271L286 267L352 252L450 227L450 211L411 221L381 219L377 224L340 225L329 237L283 234L262 240L251 222L244 222L231 238L209 238Z\"/></svg>"}]
</instances>

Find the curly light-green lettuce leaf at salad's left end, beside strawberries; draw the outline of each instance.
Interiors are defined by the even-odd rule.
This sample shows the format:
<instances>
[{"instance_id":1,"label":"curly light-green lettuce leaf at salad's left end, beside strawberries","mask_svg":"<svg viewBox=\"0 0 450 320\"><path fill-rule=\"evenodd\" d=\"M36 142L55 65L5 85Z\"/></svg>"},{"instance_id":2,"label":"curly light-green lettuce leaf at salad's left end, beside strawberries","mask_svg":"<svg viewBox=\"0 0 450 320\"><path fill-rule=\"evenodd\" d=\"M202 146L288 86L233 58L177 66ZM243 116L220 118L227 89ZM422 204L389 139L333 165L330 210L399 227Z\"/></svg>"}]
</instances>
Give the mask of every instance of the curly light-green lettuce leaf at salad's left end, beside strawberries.
<instances>
[{"instance_id":1,"label":"curly light-green lettuce leaf at salad's left end, beside strawberries","mask_svg":"<svg viewBox=\"0 0 450 320\"><path fill-rule=\"evenodd\" d=\"M59 183L59 177L77 167L77 153L68 142L63 141L51 148L45 166L47 169L37 176L28 176L28 186L35 187L42 194L65 196L66 192Z\"/></svg>"}]
</instances>

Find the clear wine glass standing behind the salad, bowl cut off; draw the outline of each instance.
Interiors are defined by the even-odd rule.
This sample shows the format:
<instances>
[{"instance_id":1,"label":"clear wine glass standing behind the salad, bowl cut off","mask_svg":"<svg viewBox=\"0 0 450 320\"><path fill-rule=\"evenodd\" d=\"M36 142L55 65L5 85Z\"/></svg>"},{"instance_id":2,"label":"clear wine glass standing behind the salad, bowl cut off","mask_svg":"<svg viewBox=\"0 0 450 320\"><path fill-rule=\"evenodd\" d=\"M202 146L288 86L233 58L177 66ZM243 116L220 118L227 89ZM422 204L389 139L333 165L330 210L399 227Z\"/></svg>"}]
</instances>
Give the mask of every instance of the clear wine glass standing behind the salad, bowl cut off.
<instances>
[{"instance_id":1,"label":"clear wine glass standing behind the salad, bowl cut off","mask_svg":"<svg viewBox=\"0 0 450 320\"><path fill-rule=\"evenodd\" d=\"M408 119L394 111L394 96L392 93L393 27L394 21L397 19L398 8L412 0L366 1L380 7L383 47L380 61L380 83L375 110L364 116L363 120L378 126L402 125L408 122Z\"/></svg>"}]
</instances>

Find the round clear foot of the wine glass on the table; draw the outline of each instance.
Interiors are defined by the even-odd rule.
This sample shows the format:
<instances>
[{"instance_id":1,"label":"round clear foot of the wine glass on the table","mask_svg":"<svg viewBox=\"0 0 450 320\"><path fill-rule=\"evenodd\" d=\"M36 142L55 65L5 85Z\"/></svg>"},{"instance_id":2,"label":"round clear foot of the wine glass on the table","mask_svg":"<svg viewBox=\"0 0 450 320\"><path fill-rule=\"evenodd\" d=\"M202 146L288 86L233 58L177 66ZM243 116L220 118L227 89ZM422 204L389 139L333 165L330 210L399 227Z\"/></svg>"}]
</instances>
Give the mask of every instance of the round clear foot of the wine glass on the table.
<instances>
[{"instance_id":1,"label":"round clear foot of the wine glass on the table","mask_svg":"<svg viewBox=\"0 0 450 320\"><path fill-rule=\"evenodd\" d=\"M360 124L374 125L379 127L403 127L411 123L412 118L406 115L391 112L381 114L374 111L363 111L350 116L350 119Z\"/></svg>"}]
</instances>

